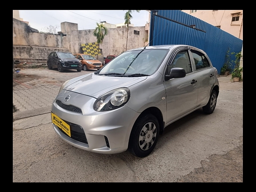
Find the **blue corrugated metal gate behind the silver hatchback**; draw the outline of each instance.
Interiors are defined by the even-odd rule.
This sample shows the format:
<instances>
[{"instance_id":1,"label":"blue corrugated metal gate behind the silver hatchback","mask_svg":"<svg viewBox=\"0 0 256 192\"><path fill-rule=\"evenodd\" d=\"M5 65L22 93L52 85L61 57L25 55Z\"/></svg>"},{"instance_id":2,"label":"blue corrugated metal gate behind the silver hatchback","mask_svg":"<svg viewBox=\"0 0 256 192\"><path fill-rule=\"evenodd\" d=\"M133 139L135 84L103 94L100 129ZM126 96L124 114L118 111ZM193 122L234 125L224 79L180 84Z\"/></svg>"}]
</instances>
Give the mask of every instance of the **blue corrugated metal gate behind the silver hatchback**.
<instances>
[{"instance_id":1,"label":"blue corrugated metal gate behind the silver hatchback","mask_svg":"<svg viewBox=\"0 0 256 192\"><path fill-rule=\"evenodd\" d=\"M193 28L194 27L194 28ZM151 10L150 46L184 44L202 49L218 74L226 52L242 50L242 40L180 10ZM234 60L234 55L231 60Z\"/></svg>"}]
</instances>

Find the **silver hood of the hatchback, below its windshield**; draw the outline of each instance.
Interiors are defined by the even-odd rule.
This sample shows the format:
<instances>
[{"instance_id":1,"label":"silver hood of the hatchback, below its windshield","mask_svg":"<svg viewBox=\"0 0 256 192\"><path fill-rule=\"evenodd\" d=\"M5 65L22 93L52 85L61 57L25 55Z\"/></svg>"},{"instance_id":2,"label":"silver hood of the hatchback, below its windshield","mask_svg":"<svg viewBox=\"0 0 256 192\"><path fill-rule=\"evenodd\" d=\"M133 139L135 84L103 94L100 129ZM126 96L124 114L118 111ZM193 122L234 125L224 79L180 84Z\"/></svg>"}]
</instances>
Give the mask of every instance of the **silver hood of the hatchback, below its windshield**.
<instances>
[{"instance_id":1,"label":"silver hood of the hatchback, below its windshield","mask_svg":"<svg viewBox=\"0 0 256 192\"><path fill-rule=\"evenodd\" d=\"M114 77L96 75L94 73L74 78L68 82L64 90L99 98L103 94L121 87L130 87L138 82L146 80L142 77Z\"/></svg>"}]
</instances>

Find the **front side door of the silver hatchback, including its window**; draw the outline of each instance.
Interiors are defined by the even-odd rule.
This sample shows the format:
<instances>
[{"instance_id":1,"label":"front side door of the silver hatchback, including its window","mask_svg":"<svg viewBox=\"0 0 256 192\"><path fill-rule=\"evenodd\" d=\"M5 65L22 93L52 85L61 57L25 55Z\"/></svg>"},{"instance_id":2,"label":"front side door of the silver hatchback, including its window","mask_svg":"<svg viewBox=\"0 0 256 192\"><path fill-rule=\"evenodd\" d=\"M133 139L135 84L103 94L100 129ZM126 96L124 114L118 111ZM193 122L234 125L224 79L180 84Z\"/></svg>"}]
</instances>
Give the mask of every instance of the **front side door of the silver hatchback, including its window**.
<instances>
[{"instance_id":1,"label":"front side door of the silver hatchback, including its window","mask_svg":"<svg viewBox=\"0 0 256 192\"><path fill-rule=\"evenodd\" d=\"M169 74L171 68L184 68L186 76L184 78L172 78L164 80L166 88L167 113L166 123L180 118L184 114L194 110L197 104L198 83L197 76L193 73L192 62L188 53L188 48L178 51L167 67L165 74Z\"/></svg>"}]
</instances>

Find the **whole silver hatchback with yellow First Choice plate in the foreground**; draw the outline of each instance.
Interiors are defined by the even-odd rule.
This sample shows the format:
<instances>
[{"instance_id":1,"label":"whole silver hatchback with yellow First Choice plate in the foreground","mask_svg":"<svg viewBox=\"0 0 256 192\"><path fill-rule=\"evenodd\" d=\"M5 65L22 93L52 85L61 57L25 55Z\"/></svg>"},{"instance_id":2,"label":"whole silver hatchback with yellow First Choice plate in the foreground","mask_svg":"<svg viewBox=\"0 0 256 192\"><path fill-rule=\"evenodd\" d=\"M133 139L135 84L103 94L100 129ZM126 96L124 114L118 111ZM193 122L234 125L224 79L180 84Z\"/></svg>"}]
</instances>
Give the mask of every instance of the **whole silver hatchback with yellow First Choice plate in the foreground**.
<instances>
[{"instance_id":1,"label":"whole silver hatchback with yellow First Choice plate in the foreground","mask_svg":"<svg viewBox=\"0 0 256 192\"><path fill-rule=\"evenodd\" d=\"M201 107L211 114L218 94L217 70L204 51L148 46L66 81L52 104L52 125L75 147L102 154L130 148L145 157L172 122Z\"/></svg>"}]
</instances>

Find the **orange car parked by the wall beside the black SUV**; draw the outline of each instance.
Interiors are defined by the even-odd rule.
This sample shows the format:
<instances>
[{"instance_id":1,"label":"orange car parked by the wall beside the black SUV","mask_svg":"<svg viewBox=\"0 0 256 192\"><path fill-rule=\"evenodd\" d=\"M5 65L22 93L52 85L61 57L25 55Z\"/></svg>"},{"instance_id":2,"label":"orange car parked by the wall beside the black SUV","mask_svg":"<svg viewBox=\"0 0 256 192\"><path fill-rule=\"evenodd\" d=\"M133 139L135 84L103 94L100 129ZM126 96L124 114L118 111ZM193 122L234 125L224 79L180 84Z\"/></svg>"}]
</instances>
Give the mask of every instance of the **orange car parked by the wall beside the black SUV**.
<instances>
[{"instance_id":1,"label":"orange car parked by the wall beside the black SUV","mask_svg":"<svg viewBox=\"0 0 256 192\"><path fill-rule=\"evenodd\" d=\"M94 56L86 55L86 54L74 54L74 56L81 60L82 62L82 69L87 71L88 69L101 69L102 68L102 62L99 60L96 60Z\"/></svg>"}]
</instances>

